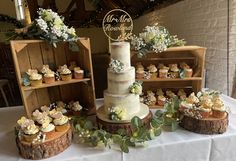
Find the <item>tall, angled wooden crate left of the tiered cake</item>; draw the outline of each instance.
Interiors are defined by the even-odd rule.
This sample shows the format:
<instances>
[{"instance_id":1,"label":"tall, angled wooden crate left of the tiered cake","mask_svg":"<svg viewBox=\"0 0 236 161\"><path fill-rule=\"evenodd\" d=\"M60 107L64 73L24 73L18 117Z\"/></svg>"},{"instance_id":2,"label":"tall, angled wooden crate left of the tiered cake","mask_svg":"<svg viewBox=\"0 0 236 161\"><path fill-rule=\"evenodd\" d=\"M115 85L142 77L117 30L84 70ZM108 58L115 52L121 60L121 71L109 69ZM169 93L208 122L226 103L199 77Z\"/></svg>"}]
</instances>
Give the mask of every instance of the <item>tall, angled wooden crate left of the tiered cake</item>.
<instances>
[{"instance_id":1,"label":"tall, angled wooden crate left of the tiered cake","mask_svg":"<svg viewBox=\"0 0 236 161\"><path fill-rule=\"evenodd\" d=\"M70 51L68 43L60 43L57 48L54 48L42 40L11 41L16 76L28 117L36 108L59 100L64 102L78 100L84 108L88 109L88 114L95 113L90 40L89 38L80 38L77 44L79 45L79 52ZM75 61L78 66L89 73L86 78L56 81L39 87L26 87L22 84L22 75L28 69L40 70L43 64L48 64L52 70L56 71L58 66L69 65L71 61Z\"/></svg>"}]
</instances>

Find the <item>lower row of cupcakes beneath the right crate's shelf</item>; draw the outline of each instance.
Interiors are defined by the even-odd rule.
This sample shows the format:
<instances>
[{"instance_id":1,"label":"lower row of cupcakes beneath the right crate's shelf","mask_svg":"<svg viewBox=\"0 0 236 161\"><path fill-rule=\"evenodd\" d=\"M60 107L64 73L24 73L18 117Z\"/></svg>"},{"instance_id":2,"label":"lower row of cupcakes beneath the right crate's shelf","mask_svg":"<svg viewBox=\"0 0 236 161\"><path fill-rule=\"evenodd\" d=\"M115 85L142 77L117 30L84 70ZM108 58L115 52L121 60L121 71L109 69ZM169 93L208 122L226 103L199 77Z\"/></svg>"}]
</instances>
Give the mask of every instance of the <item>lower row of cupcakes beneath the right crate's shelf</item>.
<instances>
[{"instance_id":1,"label":"lower row of cupcakes beneath the right crate's shelf","mask_svg":"<svg viewBox=\"0 0 236 161\"><path fill-rule=\"evenodd\" d=\"M140 101L148 106L164 106L164 104L171 98L178 97L180 100L187 98L187 93L184 89L179 89L178 92L172 90L166 90L163 92L162 89L154 91L147 91L141 97Z\"/></svg>"}]
</instances>

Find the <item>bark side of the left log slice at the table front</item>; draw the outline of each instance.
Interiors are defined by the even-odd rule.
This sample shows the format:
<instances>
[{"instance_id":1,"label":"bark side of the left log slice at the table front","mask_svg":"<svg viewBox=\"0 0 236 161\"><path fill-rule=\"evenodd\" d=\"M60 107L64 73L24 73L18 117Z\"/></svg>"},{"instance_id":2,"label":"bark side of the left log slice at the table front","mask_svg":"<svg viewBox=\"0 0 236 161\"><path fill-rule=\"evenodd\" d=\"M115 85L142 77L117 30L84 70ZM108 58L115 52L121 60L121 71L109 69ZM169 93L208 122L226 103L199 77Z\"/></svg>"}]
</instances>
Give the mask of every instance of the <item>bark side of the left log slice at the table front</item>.
<instances>
[{"instance_id":1,"label":"bark side of the left log slice at the table front","mask_svg":"<svg viewBox=\"0 0 236 161\"><path fill-rule=\"evenodd\" d=\"M42 143L29 143L16 137L16 144L20 155L25 159L45 159L63 152L71 145L72 129L68 128L64 132L55 132L55 138L45 140Z\"/></svg>"}]
</instances>

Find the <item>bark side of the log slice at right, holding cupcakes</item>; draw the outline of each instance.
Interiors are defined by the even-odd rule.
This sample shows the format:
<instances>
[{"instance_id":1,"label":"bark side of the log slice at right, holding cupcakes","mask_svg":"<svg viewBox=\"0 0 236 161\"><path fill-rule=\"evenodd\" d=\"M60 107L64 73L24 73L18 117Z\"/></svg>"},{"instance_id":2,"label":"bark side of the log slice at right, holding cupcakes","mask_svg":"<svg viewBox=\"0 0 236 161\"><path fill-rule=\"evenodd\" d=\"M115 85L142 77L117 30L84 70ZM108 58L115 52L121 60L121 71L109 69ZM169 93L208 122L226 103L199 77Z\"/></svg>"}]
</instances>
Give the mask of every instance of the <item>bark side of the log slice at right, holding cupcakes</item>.
<instances>
[{"instance_id":1,"label":"bark side of the log slice at right, holding cupcakes","mask_svg":"<svg viewBox=\"0 0 236 161\"><path fill-rule=\"evenodd\" d=\"M206 119L196 119L190 116L183 116L180 126L186 130L200 134L222 134L228 127L228 114L223 118L209 117Z\"/></svg>"}]
</instances>

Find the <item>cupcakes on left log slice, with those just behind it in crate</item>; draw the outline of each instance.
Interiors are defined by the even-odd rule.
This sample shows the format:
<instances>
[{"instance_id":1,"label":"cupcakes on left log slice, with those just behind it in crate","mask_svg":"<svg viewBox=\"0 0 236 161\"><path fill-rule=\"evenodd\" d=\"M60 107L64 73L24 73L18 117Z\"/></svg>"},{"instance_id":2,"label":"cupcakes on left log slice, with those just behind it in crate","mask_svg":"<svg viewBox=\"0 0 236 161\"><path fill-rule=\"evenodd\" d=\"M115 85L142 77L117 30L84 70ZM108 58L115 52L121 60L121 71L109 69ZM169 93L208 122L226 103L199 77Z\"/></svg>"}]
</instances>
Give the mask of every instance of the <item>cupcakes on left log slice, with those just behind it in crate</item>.
<instances>
[{"instance_id":1,"label":"cupcakes on left log slice, with those just behind it in crate","mask_svg":"<svg viewBox=\"0 0 236 161\"><path fill-rule=\"evenodd\" d=\"M82 106L78 101L68 105L62 101L52 103L49 106L41 106L32 113L32 119L21 117L17 121L16 130L23 141L29 143L41 143L53 138L57 132L64 132L69 126L69 111L78 114Z\"/></svg>"}]
</instances>

